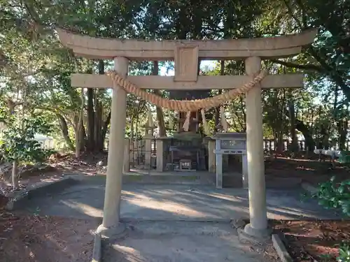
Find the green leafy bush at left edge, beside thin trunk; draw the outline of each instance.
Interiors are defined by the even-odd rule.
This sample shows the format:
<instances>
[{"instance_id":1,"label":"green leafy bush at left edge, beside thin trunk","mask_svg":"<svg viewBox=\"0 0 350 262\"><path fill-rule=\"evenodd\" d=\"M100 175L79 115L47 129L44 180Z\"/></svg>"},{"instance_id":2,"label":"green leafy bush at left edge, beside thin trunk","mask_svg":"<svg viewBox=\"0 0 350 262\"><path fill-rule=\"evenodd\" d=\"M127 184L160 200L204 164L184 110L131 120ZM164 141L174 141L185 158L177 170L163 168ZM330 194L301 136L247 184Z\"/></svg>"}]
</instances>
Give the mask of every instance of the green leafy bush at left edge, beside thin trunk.
<instances>
[{"instance_id":1,"label":"green leafy bush at left edge, beside thin trunk","mask_svg":"<svg viewBox=\"0 0 350 262\"><path fill-rule=\"evenodd\" d=\"M12 120L3 131L0 150L6 161L43 161L50 154L34 139L36 133L50 133L51 126L43 117L32 116L22 121Z\"/></svg>"}]
</instances>

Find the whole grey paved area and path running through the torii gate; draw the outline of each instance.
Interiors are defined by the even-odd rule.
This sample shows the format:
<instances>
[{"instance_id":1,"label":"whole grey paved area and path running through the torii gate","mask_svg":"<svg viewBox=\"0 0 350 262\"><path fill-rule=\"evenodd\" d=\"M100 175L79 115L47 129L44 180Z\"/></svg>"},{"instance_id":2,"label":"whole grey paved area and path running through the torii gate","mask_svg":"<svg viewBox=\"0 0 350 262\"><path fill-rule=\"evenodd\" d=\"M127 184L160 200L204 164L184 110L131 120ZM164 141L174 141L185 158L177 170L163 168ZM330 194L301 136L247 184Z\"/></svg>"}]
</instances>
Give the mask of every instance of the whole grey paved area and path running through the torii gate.
<instances>
[{"instance_id":1,"label":"whole grey paved area and path running through the torii gate","mask_svg":"<svg viewBox=\"0 0 350 262\"><path fill-rule=\"evenodd\" d=\"M29 212L102 218L104 177L87 177L59 194L31 199ZM268 190L269 219L334 218L301 191ZM106 262L279 261L271 247L242 245L231 219L248 218L248 191L206 186L124 184L121 217L130 228L104 246ZM267 253L269 254L267 256Z\"/></svg>"}]
</instances>

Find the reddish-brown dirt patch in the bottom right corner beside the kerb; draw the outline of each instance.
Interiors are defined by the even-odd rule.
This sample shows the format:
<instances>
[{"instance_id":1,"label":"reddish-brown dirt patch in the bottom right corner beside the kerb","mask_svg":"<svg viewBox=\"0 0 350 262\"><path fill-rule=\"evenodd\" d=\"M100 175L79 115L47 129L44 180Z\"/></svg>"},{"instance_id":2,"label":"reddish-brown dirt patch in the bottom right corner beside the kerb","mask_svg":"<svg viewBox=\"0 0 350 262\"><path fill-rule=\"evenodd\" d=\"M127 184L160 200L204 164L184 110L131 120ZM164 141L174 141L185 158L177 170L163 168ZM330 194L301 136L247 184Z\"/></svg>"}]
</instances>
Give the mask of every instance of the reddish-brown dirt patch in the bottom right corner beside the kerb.
<instances>
[{"instance_id":1,"label":"reddish-brown dirt patch in the bottom right corner beside the kerb","mask_svg":"<svg viewBox=\"0 0 350 262\"><path fill-rule=\"evenodd\" d=\"M287 250L298 262L335 262L342 241L350 240L350 221L269 221L283 233Z\"/></svg>"}]
</instances>

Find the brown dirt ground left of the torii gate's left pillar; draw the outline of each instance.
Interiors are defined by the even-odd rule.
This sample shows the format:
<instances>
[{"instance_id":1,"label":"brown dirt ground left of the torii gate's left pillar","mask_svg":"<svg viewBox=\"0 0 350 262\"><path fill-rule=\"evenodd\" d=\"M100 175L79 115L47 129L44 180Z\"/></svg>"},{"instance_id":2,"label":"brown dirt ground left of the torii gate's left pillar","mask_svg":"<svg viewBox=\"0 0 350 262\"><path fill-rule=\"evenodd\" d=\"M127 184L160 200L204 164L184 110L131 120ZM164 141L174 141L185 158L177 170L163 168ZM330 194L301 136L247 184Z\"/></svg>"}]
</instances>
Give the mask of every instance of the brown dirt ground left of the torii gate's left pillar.
<instances>
[{"instance_id":1,"label":"brown dirt ground left of the torii gate's left pillar","mask_svg":"<svg viewBox=\"0 0 350 262\"><path fill-rule=\"evenodd\" d=\"M20 189L44 181L62 178L63 173L95 175L99 168L93 161L72 159L70 155L50 159L45 172L26 172ZM10 182L0 180L3 195L11 194ZM95 230L94 219L40 217L36 214L5 212L8 199L0 198L0 262L87 262L91 260Z\"/></svg>"}]
</instances>

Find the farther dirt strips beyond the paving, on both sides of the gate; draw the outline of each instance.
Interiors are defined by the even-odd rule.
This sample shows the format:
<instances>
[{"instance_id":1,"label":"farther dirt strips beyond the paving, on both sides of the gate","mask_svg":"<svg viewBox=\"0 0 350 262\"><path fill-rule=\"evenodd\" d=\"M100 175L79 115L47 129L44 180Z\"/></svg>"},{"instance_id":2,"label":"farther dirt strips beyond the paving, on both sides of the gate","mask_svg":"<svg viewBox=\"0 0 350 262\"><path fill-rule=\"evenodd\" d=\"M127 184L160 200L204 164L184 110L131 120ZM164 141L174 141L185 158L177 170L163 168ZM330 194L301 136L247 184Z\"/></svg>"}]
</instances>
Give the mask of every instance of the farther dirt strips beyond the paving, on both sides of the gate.
<instances>
[{"instance_id":1,"label":"farther dirt strips beyond the paving, on both sides of the gate","mask_svg":"<svg viewBox=\"0 0 350 262\"><path fill-rule=\"evenodd\" d=\"M86 155L81 160L73 158L71 154L55 154L50 157L48 170L44 172L27 172L23 173L20 178L20 188L29 187L31 184L48 180L59 180L63 173L82 173L84 175L96 175L106 173L105 168L97 165L99 161L106 163L106 154ZM337 163L335 168L329 159L318 161L318 155L309 154L305 156L300 154L294 159L286 155L271 157L265 159L265 174L267 179L273 177L295 177L300 178L302 182L309 182L317 185L325 182L333 175L337 180L349 178L349 168ZM0 179L0 189L3 194L11 190L10 182Z\"/></svg>"}]
</instances>

